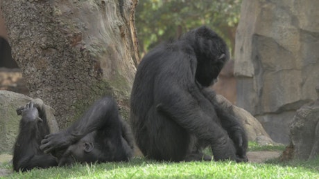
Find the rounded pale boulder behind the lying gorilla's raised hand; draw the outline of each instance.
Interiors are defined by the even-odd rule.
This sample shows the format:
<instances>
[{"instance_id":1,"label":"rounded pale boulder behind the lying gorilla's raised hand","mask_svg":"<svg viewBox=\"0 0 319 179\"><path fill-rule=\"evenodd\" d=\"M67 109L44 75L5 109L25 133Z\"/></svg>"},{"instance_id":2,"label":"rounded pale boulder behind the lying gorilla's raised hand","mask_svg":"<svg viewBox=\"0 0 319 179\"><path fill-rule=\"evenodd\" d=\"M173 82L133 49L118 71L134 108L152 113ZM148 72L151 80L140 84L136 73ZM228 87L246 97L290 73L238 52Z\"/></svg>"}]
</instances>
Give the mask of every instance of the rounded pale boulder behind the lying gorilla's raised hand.
<instances>
[{"instance_id":1,"label":"rounded pale boulder behind the lying gorilla's raised hand","mask_svg":"<svg viewBox=\"0 0 319 179\"><path fill-rule=\"evenodd\" d=\"M21 116L17 115L17 109L28 102L35 102L41 106L49 122L51 133L59 131L55 121L54 111L43 104L42 100L35 99L19 93L0 90L0 153L12 153L13 145L19 132Z\"/></svg>"}]
</instances>

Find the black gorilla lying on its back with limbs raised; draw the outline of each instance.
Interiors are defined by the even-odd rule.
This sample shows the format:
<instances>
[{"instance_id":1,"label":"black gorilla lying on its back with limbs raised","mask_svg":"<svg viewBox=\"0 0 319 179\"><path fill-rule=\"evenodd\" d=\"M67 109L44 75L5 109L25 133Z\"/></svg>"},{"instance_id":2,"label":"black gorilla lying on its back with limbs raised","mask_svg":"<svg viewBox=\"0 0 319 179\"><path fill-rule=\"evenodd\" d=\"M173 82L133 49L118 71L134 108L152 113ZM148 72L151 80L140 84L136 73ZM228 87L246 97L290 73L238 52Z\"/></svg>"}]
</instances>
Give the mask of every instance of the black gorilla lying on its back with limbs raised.
<instances>
[{"instance_id":1,"label":"black gorilla lying on its back with limbs raised","mask_svg":"<svg viewBox=\"0 0 319 179\"><path fill-rule=\"evenodd\" d=\"M111 97L98 100L65 131L49 134L41 106L17 109L22 119L13 153L13 169L28 171L74 162L126 161L133 153L130 128Z\"/></svg>"}]
</instances>

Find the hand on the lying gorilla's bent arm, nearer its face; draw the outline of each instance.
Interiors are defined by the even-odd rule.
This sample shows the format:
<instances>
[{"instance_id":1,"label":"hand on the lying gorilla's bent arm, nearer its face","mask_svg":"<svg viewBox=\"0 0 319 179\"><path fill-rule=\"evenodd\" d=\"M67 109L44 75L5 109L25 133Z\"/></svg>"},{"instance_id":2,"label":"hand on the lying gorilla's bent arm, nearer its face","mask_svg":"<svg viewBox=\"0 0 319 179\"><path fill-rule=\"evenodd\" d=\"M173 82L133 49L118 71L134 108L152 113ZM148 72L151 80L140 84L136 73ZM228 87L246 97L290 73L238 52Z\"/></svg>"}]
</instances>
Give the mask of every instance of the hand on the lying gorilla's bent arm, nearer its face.
<instances>
[{"instance_id":1,"label":"hand on the lying gorilla's bent arm, nearer its face","mask_svg":"<svg viewBox=\"0 0 319 179\"><path fill-rule=\"evenodd\" d=\"M46 135L41 141L40 149L44 153L51 153L51 151L61 150L69 147L72 144L71 135L65 132L51 133Z\"/></svg>"}]
</instances>

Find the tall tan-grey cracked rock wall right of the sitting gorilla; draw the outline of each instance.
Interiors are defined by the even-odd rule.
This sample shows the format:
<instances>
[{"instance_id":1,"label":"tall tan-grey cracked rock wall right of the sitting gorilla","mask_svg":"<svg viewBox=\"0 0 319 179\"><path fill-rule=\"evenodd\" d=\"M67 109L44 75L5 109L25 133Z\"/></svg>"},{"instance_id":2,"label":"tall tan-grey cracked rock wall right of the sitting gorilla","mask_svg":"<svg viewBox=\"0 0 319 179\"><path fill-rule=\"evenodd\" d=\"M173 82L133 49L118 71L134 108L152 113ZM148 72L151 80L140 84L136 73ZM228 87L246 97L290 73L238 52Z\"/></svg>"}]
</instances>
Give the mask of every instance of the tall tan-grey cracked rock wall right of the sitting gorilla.
<instances>
[{"instance_id":1,"label":"tall tan-grey cracked rock wall right of the sitting gorilla","mask_svg":"<svg viewBox=\"0 0 319 179\"><path fill-rule=\"evenodd\" d=\"M316 99L319 1L243 0L236 32L236 104L288 144L295 111Z\"/></svg>"}]
</instances>

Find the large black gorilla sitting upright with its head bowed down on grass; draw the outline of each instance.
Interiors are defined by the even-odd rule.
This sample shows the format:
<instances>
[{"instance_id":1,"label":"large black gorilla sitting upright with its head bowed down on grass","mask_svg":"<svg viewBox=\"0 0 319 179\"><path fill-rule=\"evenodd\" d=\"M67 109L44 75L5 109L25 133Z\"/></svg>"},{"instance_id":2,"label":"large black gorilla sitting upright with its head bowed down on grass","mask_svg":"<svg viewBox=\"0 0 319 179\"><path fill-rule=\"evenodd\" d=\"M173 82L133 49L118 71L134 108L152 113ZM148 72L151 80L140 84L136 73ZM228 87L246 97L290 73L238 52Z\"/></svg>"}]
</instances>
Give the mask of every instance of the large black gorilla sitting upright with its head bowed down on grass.
<instances>
[{"instance_id":1,"label":"large black gorilla sitting upright with its head bowed down on grass","mask_svg":"<svg viewBox=\"0 0 319 179\"><path fill-rule=\"evenodd\" d=\"M131 93L132 131L144 156L155 160L247 161L248 139L229 109L207 87L229 52L209 28L155 47L141 60Z\"/></svg>"}]
</instances>

